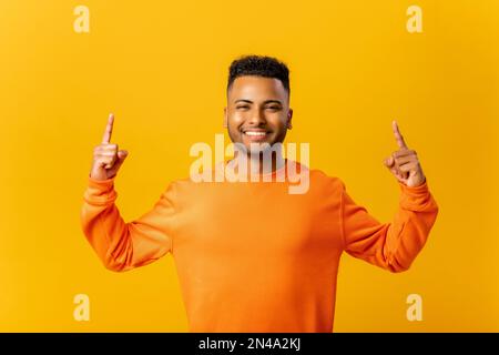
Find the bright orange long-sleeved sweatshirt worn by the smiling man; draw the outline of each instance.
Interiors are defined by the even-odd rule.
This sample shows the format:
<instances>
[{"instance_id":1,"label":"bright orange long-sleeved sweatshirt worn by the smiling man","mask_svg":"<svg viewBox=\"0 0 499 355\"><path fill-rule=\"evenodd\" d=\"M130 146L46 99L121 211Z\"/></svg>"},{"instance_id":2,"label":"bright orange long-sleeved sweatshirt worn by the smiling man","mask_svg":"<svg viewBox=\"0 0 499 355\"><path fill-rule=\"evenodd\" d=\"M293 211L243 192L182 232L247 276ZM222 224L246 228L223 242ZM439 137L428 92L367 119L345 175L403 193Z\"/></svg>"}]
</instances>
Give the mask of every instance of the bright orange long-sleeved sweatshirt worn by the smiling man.
<instances>
[{"instance_id":1,"label":"bright orange long-sleeved sweatshirt worn by the smiling man","mask_svg":"<svg viewBox=\"0 0 499 355\"><path fill-rule=\"evenodd\" d=\"M191 332L332 332L342 253L405 271L438 206L426 183L398 183L398 212L379 223L339 179L308 173L305 194L288 193L287 173L272 183L179 180L129 223L115 205L114 178L89 178L82 229L112 271L171 253Z\"/></svg>"}]
</instances>

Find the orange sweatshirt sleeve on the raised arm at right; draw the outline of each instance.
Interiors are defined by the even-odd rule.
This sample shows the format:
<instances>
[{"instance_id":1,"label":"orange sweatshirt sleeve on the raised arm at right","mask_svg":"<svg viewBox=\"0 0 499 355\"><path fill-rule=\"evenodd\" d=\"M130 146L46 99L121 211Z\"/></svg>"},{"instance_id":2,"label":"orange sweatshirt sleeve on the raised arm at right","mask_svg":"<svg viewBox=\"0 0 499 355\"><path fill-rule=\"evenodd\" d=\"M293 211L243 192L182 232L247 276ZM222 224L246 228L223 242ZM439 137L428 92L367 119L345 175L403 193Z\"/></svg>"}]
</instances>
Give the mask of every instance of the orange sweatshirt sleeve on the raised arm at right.
<instances>
[{"instance_id":1,"label":"orange sweatshirt sleeve on the raised arm at right","mask_svg":"<svg viewBox=\"0 0 499 355\"><path fill-rule=\"evenodd\" d=\"M343 185L342 220L345 251L390 272L403 272L424 247L437 219L438 205L425 181L409 187L398 183L400 199L391 223L379 223L357 205Z\"/></svg>"}]
</instances>

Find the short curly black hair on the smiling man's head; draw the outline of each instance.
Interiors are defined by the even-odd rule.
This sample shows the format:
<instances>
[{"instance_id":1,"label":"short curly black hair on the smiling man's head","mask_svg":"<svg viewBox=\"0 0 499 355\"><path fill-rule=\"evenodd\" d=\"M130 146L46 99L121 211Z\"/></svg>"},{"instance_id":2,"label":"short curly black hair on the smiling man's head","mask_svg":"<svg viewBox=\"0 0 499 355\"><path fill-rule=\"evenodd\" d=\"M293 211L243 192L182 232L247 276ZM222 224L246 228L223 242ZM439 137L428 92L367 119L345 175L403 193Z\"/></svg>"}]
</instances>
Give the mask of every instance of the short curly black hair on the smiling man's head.
<instances>
[{"instance_id":1,"label":"short curly black hair on the smiling man's head","mask_svg":"<svg viewBox=\"0 0 499 355\"><path fill-rule=\"evenodd\" d=\"M228 68L227 92L237 77L258 75L281 80L289 95L289 69L276 58L267 55L244 55L231 63Z\"/></svg>"}]
</instances>

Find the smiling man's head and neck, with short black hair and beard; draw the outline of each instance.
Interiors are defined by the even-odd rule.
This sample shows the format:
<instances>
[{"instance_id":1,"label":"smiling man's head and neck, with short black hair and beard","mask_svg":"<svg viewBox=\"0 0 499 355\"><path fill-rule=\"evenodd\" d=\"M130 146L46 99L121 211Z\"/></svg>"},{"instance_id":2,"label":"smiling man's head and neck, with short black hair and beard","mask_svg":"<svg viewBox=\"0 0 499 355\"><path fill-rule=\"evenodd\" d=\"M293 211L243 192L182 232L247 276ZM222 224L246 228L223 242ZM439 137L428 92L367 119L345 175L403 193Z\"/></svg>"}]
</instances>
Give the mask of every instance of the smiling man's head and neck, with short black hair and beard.
<instances>
[{"instance_id":1,"label":"smiling man's head and neck, with short black hair and beard","mask_svg":"<svg viewBox=\"0 0 499 355\"><path fill-rule=\"evenodd\" d=\"M265 61L274 63L272 74ZM247 154L247 170L263 173L268 172L265 169L275 171L284 165L281 143L292 128L292 118L289 72L284 63L258 57L232 63L224 128L238 148L235 158L240 152ZM271 155L265 155L268 151ZM265 158L272 166L264 164Z\"/></svg>"}]
</instances>

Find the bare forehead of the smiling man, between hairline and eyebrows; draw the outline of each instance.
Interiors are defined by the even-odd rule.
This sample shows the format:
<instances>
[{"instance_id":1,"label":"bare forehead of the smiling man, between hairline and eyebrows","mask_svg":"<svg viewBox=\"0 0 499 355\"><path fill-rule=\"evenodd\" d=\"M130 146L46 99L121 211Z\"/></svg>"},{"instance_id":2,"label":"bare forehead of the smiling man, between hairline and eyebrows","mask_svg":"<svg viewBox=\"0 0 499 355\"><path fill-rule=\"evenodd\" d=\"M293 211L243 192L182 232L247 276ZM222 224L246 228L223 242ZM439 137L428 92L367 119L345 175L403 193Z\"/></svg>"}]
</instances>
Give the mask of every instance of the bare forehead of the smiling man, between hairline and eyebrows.
<instances>
[{"instance_id":1,"label":"bare forehead of the smiling man, between hairline and eyebrows","mask_svg":"<svg viewBox=\"0 0 499 355\"><path fill-rule=\"evenodd\" d=\"M257 75L237 77L228 91L228 99L247 99L252 101L267 100L269 97L284 100L286 98L281 80Z\"/></svg>"}]
</instances>

